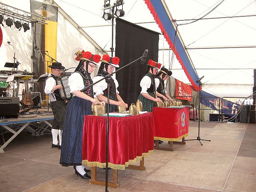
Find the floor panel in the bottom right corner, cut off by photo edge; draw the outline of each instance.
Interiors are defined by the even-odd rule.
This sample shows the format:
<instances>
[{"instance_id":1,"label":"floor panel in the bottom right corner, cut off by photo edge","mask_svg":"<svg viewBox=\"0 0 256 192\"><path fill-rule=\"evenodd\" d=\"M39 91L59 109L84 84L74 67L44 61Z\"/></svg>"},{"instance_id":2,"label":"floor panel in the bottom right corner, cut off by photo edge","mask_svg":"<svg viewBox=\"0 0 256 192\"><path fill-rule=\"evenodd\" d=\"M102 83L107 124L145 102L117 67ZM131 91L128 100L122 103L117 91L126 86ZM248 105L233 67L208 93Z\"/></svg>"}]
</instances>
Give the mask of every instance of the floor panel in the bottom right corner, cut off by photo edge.
<instances>
[{"instance_id":1,"label":"floor panel in the bottom right corner, cut off by photo edge","mask_svg":"<svg viewBox=\"0 0 256 192\"><path fill-rule=\"evenodd\" d=\"M236 157L224 191L255 192L256 191L256 158Z\"/></svg>"}]
</instances>

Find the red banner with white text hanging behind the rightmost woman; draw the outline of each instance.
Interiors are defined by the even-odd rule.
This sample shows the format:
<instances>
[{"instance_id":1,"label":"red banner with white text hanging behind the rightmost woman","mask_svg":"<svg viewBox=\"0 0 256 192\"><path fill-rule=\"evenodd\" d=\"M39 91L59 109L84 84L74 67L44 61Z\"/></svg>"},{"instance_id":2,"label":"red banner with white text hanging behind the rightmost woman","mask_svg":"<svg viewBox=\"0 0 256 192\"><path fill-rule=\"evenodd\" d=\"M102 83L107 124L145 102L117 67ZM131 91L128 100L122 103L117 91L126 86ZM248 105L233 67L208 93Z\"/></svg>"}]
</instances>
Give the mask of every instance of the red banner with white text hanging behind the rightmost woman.
<instances>
[{"instance_id":1,"label":"red banner with white text hanging behind the rightmost woman","mask_svg":"<svg viewBox=\"0 0 256 192\"><path fill-rule=\"evenodd\" d=\"M176 98L192 101L192 86L176 80Z\"/></svg>"}]
</instances>

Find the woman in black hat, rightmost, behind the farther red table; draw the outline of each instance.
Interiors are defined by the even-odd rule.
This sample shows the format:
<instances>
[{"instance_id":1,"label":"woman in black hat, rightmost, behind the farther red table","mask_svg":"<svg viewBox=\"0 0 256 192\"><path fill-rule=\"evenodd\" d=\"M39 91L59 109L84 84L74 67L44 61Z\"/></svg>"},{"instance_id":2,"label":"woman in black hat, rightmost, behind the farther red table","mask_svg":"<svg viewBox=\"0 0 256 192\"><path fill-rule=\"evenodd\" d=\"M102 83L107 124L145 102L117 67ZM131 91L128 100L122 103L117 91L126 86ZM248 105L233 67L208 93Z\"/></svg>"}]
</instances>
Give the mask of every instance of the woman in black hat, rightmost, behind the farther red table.
<instances>
[{"instance_id":1,"label":"woman in black hat, rightmost, behind the farther red table","mask_svg":"<svg viewBox=\"0 0 256 192\"><path fill-rule=\"evenodd\" d=\"M168 69L162 67L161 70L156 75L155 81L156 81L156 96L158 96L162 101L167 101L168 99L170 102L173 101L173 99L167 94L165 88L165 80L168 79L169 76L172 75L171 71L168 71Z\"/></svg>"}]
</instances>

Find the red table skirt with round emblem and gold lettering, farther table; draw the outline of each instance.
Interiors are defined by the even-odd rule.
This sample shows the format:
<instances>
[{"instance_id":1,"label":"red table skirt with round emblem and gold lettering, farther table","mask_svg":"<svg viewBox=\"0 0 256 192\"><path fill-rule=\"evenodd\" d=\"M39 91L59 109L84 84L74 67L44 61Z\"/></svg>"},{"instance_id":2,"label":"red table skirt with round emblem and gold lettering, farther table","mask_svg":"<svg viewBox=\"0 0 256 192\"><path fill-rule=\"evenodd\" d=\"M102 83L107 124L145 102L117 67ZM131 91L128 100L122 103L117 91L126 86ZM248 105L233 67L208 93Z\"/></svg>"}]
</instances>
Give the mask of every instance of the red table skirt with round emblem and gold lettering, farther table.
<instances>
[{"instance_id":1,"label":"red table skirt with round emblem and gold lettering, farther table","mask_svg":"<svg viewBox=\"0 0 256 192\"><path fill-rule=\"evenodd\" d=\"M188 135L189 107L153 107L154 139L178 141Z\"/></svg>"}]
</instances>

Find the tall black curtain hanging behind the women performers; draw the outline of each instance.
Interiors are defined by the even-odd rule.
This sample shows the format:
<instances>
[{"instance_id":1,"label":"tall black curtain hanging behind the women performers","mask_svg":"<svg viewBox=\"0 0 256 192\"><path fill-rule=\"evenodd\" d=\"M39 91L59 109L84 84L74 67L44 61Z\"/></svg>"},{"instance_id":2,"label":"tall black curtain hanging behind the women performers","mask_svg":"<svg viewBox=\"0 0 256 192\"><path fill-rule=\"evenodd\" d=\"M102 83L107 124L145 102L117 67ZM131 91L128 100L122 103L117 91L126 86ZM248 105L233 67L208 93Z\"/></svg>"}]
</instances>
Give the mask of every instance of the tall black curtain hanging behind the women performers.
<instances>
[{"instance_id":1,"label":"tall black curtain hanging behind the women performers","mask_svg":"<svg viewBox=\"0 0 256 192\"><path fill-rule=\"evenodd\" d=\"M116 79L119 83L119 94L128 106L131 103L136 103L137 97L140 94L140 80L146 74L148 60L158 61L159 34L158 32L116 18L115 56L120 58L120 67L138 59L142 56L144 50L148 49L148 57L144 65L140 64L139 60L116 73Z\"/></svg>"}]
</instances>

